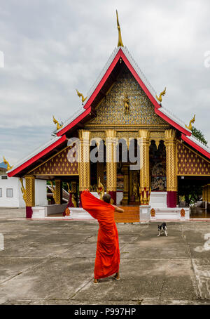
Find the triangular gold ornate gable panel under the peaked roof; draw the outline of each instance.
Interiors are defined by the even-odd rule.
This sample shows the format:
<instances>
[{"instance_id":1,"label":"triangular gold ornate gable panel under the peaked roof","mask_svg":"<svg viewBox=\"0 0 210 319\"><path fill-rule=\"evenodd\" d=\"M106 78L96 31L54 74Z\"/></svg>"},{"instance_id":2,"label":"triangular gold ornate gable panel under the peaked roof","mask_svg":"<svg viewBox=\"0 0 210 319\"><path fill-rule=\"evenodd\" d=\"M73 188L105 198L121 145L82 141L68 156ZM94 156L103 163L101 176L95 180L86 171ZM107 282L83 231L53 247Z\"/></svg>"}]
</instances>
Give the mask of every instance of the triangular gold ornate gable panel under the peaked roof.
<instances>
[{"instance_id":1,"label":"triangular gold ornate gable panel under the peaked roof","mask_svg":"<svg viewBox=\"0 0 210 319\"><path fill-rule=\"evenodd\" d=\"M125 101L128 110L125 108ZM89 124L116 124L147 126L169 126L164 119L155 114L151 100L146 96L141 86L126 66L122 67L116 82L95 112L97 116L87 122ZM161 125L162 124L162 125Z\"/></svg>"}]
</instances>

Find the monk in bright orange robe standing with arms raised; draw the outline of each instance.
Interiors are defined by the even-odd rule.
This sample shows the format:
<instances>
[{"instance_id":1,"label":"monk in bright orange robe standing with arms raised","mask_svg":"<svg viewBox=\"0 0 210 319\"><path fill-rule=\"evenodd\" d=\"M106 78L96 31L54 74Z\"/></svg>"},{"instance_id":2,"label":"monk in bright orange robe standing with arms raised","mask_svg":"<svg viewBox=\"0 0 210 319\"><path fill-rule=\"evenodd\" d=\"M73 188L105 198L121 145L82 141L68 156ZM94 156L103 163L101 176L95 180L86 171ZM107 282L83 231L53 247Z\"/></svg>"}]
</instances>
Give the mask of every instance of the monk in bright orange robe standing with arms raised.
<instances>
[{"instance_id":1,"label":"monk in bright orange robe standing with arms raised","mask_svg":"<svg viewBox=\"0 0 210 319\"><path fill-rule=\"evenodd\" d=\"M123 213L123 209L111 204L111 195L105 194L103 200L94 197L88 190L81 194L83 209L99 222L97 252L94 264L94 283L100 278L114 275L120 279L120 249L118 229L114 220L114 212Z\"/></svg>"}]
</instances>

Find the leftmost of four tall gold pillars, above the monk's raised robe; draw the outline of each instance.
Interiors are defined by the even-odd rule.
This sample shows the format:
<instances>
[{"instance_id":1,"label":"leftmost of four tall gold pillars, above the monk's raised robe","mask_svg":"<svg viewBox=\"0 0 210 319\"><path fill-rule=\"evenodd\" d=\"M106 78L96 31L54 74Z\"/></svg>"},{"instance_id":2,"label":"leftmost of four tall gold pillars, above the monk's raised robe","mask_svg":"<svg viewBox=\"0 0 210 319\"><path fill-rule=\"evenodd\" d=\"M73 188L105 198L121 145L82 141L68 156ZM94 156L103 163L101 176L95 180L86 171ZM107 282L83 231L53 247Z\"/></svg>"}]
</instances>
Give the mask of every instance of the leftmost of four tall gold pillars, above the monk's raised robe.
<instances>
[{"instance_id":1,"label":"leftmost of four tall gold pillars, above the monk's raised robe","mask_svg":"<svg viewBox=\"0 0 210 319\"><path fill-rule=\"evenodd\" d=\"M80 129L79 190L90 190L90 131Z\"/></svg>"}]
</instances>

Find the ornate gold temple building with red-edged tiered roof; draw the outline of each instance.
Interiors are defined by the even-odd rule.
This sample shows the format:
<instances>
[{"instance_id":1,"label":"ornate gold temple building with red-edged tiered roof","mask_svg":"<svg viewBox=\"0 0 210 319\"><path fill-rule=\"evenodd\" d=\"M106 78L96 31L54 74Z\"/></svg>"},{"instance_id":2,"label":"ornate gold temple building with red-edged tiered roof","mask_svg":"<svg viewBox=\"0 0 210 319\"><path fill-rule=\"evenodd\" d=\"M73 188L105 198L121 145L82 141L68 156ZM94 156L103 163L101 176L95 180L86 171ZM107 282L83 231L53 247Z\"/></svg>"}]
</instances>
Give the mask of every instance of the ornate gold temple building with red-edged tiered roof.
<instances>
[{"instance_id":1,"label":"ornate gold temple building with red-edged tiered roof","mask_svg":"<svg viewBox=\"0 0 210 319\"><path fill-rule=\"evenodd\" d=\"M36 207L36 179L54 181L57 205L62 204L62 182L69 183L69 207L82 207L80 193L88 189L104 190L127 207L172 209L179 206L179 188L197 183L210 208L210 150L192 135L195 117L186 125L162 105L166 89L155 92L123 46L119 23L118 47L87 97L77 93L78 110L62 126L54 118L56 137L8 171L8 176L25 178L28 218ZM69 145L70 138L80 141L80 161L69 161L75 145ZM92 162L95 146L103 156Z\"/></svg>"}]
</instances>

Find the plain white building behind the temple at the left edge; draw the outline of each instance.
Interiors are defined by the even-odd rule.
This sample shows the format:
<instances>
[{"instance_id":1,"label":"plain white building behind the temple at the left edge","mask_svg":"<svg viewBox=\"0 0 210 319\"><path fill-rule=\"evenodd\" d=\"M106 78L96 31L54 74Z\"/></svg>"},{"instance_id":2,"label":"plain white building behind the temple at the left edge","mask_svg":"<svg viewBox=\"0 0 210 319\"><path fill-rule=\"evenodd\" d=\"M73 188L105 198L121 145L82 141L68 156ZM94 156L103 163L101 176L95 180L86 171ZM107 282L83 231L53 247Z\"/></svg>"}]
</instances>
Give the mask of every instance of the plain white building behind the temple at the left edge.
<instances>
[{"instance_id":1,"label":"plain white building behind the temple at the left edge","mask_svg":"<svg viewBox=\"0 0 210 319\"><path fill-rule=\"evenodd\" d=\"M25 178L23 178L25 186ZM38 206L47 205L46 181L36 179L35 201ZM6 169L0 169L0 207L25 207L21 183L17 177L8 177Z\"/></svg>"}]
</instances>

